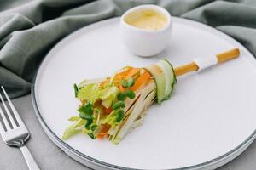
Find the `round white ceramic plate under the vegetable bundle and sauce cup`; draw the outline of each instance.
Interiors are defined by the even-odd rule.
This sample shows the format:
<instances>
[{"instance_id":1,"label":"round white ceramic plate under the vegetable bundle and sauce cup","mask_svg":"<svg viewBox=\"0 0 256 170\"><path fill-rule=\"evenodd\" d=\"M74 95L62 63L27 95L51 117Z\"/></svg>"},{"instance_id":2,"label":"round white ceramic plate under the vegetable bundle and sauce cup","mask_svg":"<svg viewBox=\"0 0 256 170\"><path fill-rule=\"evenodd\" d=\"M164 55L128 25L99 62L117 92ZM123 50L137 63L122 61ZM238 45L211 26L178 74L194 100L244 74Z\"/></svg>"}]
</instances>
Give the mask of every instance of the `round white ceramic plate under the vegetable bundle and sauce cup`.
<instances>
[{"instance_id":1,"label":"round white ceramic plate under the vegetable bundle and sauce cup","mask_svg":"<svg viewBox=\"0 0 256 170\"><path fill-rule=\"evenodd\" d=\"M107 77L125 65L166 58L174 66L195 57L240 48L241 57L206 71L178 77L172 99L152 105L143 126L119 145L79 134L61 141L78 102L73 83ZM212 169L230 161L255 138L256 62L234 39L209 26L173 17L170 47L139 58L124 46L119 18L74 32L53 48L38 70L32 98L38 119L67 155L97 169Z\"/></svg>"}]
</instances>

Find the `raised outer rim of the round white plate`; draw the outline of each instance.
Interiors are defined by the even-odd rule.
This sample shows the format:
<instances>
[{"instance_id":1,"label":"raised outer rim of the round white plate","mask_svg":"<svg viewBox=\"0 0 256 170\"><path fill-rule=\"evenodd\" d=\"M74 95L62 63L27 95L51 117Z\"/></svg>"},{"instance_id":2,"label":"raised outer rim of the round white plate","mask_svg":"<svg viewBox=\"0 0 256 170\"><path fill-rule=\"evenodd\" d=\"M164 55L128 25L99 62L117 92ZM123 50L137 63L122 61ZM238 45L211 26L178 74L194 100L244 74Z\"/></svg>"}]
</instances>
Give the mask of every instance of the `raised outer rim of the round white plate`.
<instances>
[{"instance_id":1,"label":"raised outer rim of the round white plate","mask_svg":"<svg viewBox=\"0 0 256 170\"><path fill-rule=\"evenodd\" d=\"M95 26L96 24L103 24L103 22L110 22L112 20L117 20L119 19L120 17L113 17L113 18L110 18L110 19L106 19L106 20L100 20L100 21L97 21L95 23L92 23L88 26L83 26L81 28L79 28L79 30L77 31L73 31L73 33L67 35L67 37L63 37L61 39L61 41L57 42L55 44L55 46L53 46L49 52L45 55L44 59L42 60L42 62L40 63L40 65L38 66L38 71L36 72L35 76L33 77L33 80L32 80L32 87L31 87L31 97L32 97L32 106L33 106L33 109L36 113L36 116L38 117L38 121L40 122L40 125L43 127L44 129L44 133L47 134L47 136L49 137L49 139L51 139L54 144L55 142L61 144L61 146L59 144L55 144L56 146L58 146L61 150L63 150L63 148L61 147L64 147L65 150L70 150L74 155L76 156L80 156L82 157L85 161L90 161L91 163L93 164L96 164L98 166L101 166L101 167L108 167L108 168L112 168L112 169L122 169L122 170L143 170L143 169L139 169L139 168L131 168L131 167L121 167L121 166L117 166L117 165L114 165L114 164L110 164L108 162L105 162L105 161L100 161L100 160L97 160L93 157L90 157L90 156L87 156L85 155L84 153L81 153L79 150L76 150L74 149L72 146L70 146L69 144L65 143L64 141L62 141L50 128L49 126L47 125L47 123L44 121L44 118L43 116L41 115L40 111L39 111L39 108L38 108L38 104L37 104L37 99L36 99L36 81L37 81L37 78L38 78L38 73L40 71L40 68L42 66L42 64L44 63L44 61L48 58L49 54L51 54L51 52L57 47L59 46L61 43L63 43L64 41L67 40L68 37L73 37L74 34L78 34L79 31L83 30L85 27L89 27L89 26ZM176 16L172 16L172 21L180 21L180 23L185 23L185 24L188 24L189 23L189 26L193 25L193 26L198 26L198 27L204 27L204 28L207 28L207 31L210 31L210 32L213 32L214 35L215 34L218 34L218 37L224 37L224 39L228 39L229 41L233 42L233 43L236 43L238 46L240 46L239 48L242 48L243 51L245 51L247 54L253 56L253 54L251 54L251 52L245 48L240 42L237 42L236 39L234 39L233 37L230 37L229 35L225 34L223 31L219 31L217 30L216 28L212 27L212 26L207 26L206 24L203 24L199 21L196 21L196 20L189 20L189 19L186 19L186 18L181 18L181 17L176 17ZM251 57L249 57L251 58ZM250 61L253 61L254 62L254 65L256 65L256 59L254 58L253 56L253 59L250 59ZM251 63L252 64L252 63ZM50 134L49 134L50 133ZM53 137L53 139L49 136L51 135ZM245 139L243 142L241 142L241 144L238 144L234 149L224 153L223 155L221 156L218 156L210 161L205 161L205 162L202 162L202 163L198 163L198 164L195 164L195 165L192 165L192 166L188 166L188 167L179 167L179 168L172 168L172 169L166 169L166 170L187 170L187 169L198 169L198 168L202 168L202 167L207 167L207 166L211 166L211 164L214 164L214 163L218 163L218 161L222 161L224 158L228 158L228 156L232 156L232 154L235 154L236 151L239 151L242 149L243 146L246 146L247 143L249 143L251 140L254 140L256 138L256 129L253 130L253 133L251 133L247 139ZM253 142L251 142L253 143ZM249 144L250 145L250 144ZM248 146L249 146L248 145ZM248 147L247 146L247 147ZM64 151L65 152L65 151ZM241 152L242 153L242 152ZM65 152L65 154L67 154ZM74 158L72 158L74 159ZM75 159L74 159L75 160ZM77 160L76 160L77 161Z\"/></svg>"}]
</instances>

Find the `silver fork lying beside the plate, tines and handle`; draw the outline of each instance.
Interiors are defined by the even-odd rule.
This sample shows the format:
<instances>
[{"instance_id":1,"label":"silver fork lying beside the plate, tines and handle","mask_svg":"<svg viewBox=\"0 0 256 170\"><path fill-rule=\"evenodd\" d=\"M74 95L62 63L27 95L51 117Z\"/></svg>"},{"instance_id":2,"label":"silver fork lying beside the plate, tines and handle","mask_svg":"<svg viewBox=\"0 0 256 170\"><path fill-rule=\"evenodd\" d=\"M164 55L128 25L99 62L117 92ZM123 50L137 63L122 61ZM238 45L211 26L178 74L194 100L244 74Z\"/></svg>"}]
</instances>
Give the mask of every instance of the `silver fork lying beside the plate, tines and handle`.
<instances>
[{"instance_id":1,"label":"silver fork lying beside the plate, tines and handle","mask_svg":"<svg viewBox=\"0 0 256 170\"><path fill-rule=\"evenodd\" d=\"M6 116L7 116L7 117L5 116L2 108L0 107L0 115L2 116L2 120L3 120L3 124L0 122L0 133L3 138L3 141L5 144L7 144L9 146L16 146L16 147L20 148L23 156L25 157L26 164L30 170L39 170L38 164L36 163L32 154L30 153L30 151L27 149L27 147L25 145L27 139L29 139L29 137L30 137L30 135L26 129L26 126L25 126L24 122L22 122L18 112L15 109L15 106L9 99L9 96L6 93L6 91L4 90L3 86L1 86L1 88L3 90L3 94L5 95L5 98L7 99L8 103L9 103L10 109L14 115L14 117L11 115L7 105L5 105L5 103L4 103L3 96L0 93L0 99L3 103L3 108L4 108L4 110L6 112ZM7 118L9 118L10 123L8 122ZM18 122L17 124L15 122L15 119Z\"/></svg>"}]
</instances>

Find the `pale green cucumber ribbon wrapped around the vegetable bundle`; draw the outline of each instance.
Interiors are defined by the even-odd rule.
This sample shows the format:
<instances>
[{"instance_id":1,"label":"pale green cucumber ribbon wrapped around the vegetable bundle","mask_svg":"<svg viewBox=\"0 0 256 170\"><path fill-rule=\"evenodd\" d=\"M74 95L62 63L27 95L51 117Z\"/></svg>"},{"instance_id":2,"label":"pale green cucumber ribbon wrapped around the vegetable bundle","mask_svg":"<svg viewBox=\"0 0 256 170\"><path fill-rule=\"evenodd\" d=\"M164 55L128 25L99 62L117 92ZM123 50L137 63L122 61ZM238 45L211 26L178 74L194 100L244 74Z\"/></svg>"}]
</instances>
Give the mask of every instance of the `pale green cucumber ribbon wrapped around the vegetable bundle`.
<instances>
[{"instance_id":1,"label":"pale green cucumber ribbon wrapped around the vegetable bundle","mask_svg":"<svg viewBox=\"0 0 256 170\"><path fill-rule=\"evenodd\" d=\"M161 59L146 69L156 82L157 102L160 104L163 100L170 99L174 84L177 82L171 63L166 59Z\"/></svg>"}]
</instances>

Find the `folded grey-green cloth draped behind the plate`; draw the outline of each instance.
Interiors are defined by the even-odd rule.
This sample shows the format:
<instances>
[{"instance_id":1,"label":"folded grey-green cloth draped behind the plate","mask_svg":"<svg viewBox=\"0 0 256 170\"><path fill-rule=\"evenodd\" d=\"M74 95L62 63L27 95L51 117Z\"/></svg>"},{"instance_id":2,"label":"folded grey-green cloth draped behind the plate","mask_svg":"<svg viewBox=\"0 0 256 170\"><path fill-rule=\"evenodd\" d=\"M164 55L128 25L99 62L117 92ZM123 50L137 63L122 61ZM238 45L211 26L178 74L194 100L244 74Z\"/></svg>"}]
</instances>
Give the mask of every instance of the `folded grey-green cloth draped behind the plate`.
<instances>
[{"instance_id":1,"label":"folded grey-green cloth draped behind the plate","mask_svg":"<svg viewBox=\"0 0 256 170\"><path fill-rule=\"evenodd\" d=\"M158 4L172 15L216 27L256 54L255 0L26 1L0 1L0 85L12 98L30 92L40 62L61 38L145 3Z\"/></svg>"}]
</instances>

